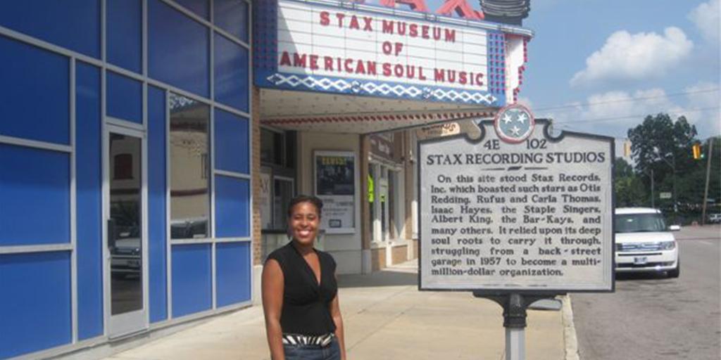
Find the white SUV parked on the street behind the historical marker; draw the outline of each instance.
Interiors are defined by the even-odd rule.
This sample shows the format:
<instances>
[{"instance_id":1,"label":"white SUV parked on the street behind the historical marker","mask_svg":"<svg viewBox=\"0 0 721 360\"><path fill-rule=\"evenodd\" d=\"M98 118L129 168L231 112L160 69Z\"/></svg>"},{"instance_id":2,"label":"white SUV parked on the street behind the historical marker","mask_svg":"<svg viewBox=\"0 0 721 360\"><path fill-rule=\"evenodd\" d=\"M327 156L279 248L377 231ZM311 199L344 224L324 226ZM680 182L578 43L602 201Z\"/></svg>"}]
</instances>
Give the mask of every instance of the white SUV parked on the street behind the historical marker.
<instances>
[{"instance_id":1,"label":"white SUV parked on the street behind the historical marker","mask_svg":"<svg viewBox=\"0 0 721 360\"><path fill-rule=\"evenodd\" d=\"M678 244L666 228L661 212L649 207L616 209L616 272L666 271L678 277Z\"/></svg>"}]
</instances>

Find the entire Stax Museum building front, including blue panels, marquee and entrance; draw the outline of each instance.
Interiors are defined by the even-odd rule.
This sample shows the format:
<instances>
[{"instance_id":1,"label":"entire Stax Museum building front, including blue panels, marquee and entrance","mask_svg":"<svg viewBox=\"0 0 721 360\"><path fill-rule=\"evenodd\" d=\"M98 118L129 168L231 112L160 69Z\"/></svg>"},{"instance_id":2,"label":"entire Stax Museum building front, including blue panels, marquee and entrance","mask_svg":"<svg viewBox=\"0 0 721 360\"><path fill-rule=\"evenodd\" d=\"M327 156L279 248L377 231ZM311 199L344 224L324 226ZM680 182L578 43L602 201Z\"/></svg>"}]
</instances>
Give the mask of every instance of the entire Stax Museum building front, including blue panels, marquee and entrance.
<instances>
[{"instance_id":1,"label":"entire Stax Museum building front, including blue panels, marquee and entrance","mask_svg":"<svg viewBox=\"0 0 721 360\"><path fill-rule=\"evenodd\" d=\"M0 359L252 305L295 194L340 274L416 258L416 141L515 102L532 36L419 1L1 4Z\"/></svg>"}]
</instances>

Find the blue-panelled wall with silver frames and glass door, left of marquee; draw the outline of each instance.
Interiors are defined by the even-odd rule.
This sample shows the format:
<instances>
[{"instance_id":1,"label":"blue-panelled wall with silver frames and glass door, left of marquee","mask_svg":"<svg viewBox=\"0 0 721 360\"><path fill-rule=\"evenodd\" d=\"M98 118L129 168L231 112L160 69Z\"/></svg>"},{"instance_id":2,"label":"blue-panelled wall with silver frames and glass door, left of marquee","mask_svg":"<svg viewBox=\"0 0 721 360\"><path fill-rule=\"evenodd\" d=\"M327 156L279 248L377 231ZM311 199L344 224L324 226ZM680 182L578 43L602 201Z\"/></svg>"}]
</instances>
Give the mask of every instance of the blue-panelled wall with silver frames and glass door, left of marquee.
<instances>
[{"instance_id":1,"label":"blue-panelled wall with silver frames and glass door, left of marquee","mask_svg":"<svg viewBox=\"0 0 721 360\"><path fill-rule=\"evenodd\" d=\"M0 358L250 304L250 14L0 5Z\"/></svg>"}]
</instances>

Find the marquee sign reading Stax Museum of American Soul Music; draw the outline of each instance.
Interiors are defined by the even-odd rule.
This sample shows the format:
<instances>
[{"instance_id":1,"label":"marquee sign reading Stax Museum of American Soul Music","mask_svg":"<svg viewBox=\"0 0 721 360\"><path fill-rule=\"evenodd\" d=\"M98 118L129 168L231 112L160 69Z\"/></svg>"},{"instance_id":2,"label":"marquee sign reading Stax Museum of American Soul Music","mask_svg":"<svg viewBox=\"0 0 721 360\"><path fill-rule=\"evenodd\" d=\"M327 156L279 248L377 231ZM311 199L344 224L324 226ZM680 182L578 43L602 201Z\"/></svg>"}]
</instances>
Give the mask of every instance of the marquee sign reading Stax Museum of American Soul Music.
<instances>
[{"instance_id":1,"label":"marquee sign reading Stax Museum of American Soul Music","mask_svg":"<svg viewBox=\"0 0 721 360\"><path fill-rule=\"evenodd\" d=\"M263 87L500 107L507 33L495 24L332 0L258 1ZM528 30L508 27L530 37Z\"/></svg>"}]
</instances>

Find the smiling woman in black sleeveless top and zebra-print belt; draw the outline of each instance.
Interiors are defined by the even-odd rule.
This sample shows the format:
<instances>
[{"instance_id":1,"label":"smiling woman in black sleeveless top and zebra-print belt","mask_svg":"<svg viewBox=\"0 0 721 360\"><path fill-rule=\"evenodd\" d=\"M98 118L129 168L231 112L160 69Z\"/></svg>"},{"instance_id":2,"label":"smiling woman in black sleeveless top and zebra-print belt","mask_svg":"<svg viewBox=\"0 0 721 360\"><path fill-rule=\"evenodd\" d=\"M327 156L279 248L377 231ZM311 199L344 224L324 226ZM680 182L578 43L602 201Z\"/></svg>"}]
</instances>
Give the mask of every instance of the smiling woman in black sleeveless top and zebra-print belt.
<instances>
[{"instance_id":1,"label":"smiling woman in black sleeveless top and zebra-print belt","mask_svg":"<svg viewBox=\"0 0 721 360\"><path fill-rule=\"evenodd\" d=\"M273 360L345 360L335 261L313 248L323 202L301 195L288 206L288 245L270 253L262 300Z\"/></svg>"}]
</instances>

